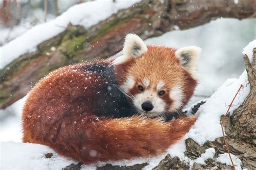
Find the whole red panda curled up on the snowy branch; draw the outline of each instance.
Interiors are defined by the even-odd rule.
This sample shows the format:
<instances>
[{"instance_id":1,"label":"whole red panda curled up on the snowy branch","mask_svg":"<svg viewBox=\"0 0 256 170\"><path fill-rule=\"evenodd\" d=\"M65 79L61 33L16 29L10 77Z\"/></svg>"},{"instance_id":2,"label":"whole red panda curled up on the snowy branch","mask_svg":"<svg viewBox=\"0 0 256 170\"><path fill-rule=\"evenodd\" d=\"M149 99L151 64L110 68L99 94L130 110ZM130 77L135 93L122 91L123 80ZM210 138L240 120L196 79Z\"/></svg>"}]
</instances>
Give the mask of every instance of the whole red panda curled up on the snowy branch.
<instances>
[{"instance_id":1,"label":"whole red panda curled up on the snowy branch","mask_svg":"<svg viewBox=\"0 0 256 170\"><path fill-rule=\"evenodd\" d=\"M193 95L199 52L146 46L128 34L117 59L53 71L28 94L23 142L83 164L163 153L196 121L159 117L173 115Z\"/></svg>"}]
</instances>

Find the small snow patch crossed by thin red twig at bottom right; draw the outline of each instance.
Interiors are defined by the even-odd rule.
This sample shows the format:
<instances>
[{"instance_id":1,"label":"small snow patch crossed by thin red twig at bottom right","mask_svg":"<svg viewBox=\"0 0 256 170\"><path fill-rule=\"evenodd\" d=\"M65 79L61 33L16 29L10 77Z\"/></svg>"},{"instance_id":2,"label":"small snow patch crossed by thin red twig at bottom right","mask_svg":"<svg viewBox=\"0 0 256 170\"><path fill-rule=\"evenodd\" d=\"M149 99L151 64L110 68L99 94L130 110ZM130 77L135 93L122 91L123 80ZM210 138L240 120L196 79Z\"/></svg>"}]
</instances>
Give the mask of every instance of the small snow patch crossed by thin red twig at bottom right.
<instances>
[{"instance_id":1,"label":"small snow patch crossed by thin red twig at bottom right","mask_svg":"<svg viewBox=\"0 0 256 170\"><path fill-rule=\"evenodd\" d=\"M235 155L233 155L232 153L230 155L231 155L231 158L235 165L235 169L241 169L241 160L238 157L236 157ZM232 166L232 163L231 163L230 157L228 156L228 153L219 154L219 157L216 159L216 161L220 162L221 164L226 164L226 165Z\"/></svg>"}]
</instances>

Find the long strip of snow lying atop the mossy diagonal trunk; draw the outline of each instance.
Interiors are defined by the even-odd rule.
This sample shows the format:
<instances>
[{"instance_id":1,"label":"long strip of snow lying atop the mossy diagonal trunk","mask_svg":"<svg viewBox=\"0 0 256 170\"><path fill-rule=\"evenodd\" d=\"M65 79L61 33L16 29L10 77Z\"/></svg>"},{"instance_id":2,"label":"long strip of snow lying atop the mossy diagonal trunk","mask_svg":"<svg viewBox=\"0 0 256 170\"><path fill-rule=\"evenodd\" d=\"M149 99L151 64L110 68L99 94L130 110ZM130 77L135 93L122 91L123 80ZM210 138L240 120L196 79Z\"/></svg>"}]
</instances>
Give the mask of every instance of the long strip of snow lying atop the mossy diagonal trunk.
<instances>
[{"instance_id":1,"label":"long strip of snow lying atop the mossy diagonal trunk","mask_svg":"<svg viewBox=\"0 0 256 170\"><path fill-rule=\"evenodd\" d=\"M90 1L73 5L69 10L50 22L33 26L30 30L0 47L0 69L22 54L35 52L37 45L60 32L65 31L69 23L82 25L89 29L92 25L110 17L120 9L129 8L140 0ZM15 47L15 48L14 48Z\"/></svg>"}]
</instances>

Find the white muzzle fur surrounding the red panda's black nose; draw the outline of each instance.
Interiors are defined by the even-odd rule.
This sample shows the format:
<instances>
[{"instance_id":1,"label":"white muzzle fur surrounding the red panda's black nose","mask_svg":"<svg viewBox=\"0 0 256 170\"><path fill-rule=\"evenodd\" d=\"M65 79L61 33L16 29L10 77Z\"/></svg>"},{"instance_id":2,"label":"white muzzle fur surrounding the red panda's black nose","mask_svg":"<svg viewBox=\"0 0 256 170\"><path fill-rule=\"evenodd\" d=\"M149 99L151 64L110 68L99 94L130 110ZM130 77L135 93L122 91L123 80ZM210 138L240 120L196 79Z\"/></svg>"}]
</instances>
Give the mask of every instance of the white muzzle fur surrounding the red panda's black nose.
<instances>
[{"instance_id":1,"label":"white muzzle fur surrounding the red panda's black nose","mask_svg":"<svg viewBox=\"0 0 256 170\"><path fill-rule=\"evenodd\" d=\"M150 101L153 105L153 109L151 111L144 111L142 109L142 104L146 101ZM137 94L134 96L133 105L137 108L140 114L143 114L147 117L156 117L165 111L166 103L163 99L161 99L156 91L153 90L145 90L143 93Z\"/></svg>"}]
</instances>

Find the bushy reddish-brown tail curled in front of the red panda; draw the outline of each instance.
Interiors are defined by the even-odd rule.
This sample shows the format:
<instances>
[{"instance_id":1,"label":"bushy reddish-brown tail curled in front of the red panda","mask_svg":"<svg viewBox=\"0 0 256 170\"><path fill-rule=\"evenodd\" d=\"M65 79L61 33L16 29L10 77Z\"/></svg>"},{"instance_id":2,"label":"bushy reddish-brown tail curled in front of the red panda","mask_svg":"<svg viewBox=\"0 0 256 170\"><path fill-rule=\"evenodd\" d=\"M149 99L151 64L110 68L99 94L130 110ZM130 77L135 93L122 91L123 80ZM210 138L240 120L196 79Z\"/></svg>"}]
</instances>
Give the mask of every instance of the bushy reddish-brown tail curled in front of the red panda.
<instances>
[{"instance_id":1,"label":"bushy reddish-brown tail curled in front of the red panda","mask_svg":"<svg viewBox=\"0 0 256 170\"><path fill-rule=\"evenodd\" d=\"M72 116L62 120L48 139L35 139L67 157L84 164L96 161L148 157L163 153L190 130L196 117L183 117L171 122L139 116L102 119ZM24 129L24 133L29 129ZM31 139L31 137L30 137ZM26 137L23 139L26 141Z\"/></svg>"}]
</instances>

